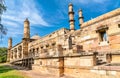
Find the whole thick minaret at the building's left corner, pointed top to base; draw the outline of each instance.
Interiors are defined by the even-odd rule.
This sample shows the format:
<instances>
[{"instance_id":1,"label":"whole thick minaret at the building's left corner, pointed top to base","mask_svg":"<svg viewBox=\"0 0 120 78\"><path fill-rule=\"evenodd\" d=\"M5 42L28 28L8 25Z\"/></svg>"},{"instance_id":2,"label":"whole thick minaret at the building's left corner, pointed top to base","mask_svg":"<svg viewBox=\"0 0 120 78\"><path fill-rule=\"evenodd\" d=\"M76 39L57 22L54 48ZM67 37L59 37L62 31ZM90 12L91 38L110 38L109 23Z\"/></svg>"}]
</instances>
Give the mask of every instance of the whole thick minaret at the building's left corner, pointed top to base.
<instances>
[{"instance_id":1,"label":"whole thick minaret at the building's left corner, pointed top to base","mask_svg":"<svg viewBox=\"0 0 120 78\"><path fill-rule=\"evenodd\" d=\"M23 36L23 58L28 57L28 43L30 41L30 22L26 18L24 21L24 36Z\"/></svg>"}]
</instances>

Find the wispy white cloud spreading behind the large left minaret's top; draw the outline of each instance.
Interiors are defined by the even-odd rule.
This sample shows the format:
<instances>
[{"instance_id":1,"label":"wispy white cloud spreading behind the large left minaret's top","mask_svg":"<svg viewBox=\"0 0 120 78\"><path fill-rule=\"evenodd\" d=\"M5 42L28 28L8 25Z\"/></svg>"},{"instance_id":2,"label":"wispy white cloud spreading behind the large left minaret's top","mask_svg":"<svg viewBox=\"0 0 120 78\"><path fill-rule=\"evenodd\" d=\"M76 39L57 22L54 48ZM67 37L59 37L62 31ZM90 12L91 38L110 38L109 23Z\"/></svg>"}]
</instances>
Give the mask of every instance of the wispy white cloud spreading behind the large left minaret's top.
<instances>
[{"instance_id":1,"label":"wispy white cloud spreading behind the large left minaret's top","mask_svg":"<svg viewBox=\"0 0 120 78\"><path fill-rule=\"evenodd\" d=\"M49 26L34 0L5 0L5 4L7 11L2 16L2 24L8 29L7 36L23 34L23 21L26 18L30 20L31 26Z\"/></svg>"}]
</instances>

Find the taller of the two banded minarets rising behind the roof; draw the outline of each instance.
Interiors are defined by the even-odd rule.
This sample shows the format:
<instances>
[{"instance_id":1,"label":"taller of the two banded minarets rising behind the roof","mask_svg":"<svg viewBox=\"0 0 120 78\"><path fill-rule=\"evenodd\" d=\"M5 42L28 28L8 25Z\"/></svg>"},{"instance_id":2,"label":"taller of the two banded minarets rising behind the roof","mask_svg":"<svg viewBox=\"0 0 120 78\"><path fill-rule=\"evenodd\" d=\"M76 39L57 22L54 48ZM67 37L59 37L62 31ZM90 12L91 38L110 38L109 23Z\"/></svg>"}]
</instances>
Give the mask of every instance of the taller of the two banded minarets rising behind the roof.
<instances>
[{"instance_id":1,"label":"taller of the two banded minarets rising behind the roof","mask_svg":"<svg viewBox=\"0 0 120 78\"><path fill-rule=\"evenodd\" d=\"M70 23L70 30L74 31L75 30L75 26L74 26L74 12L73 12L73 5L70 3L69 4L69 23Z\"/></svg>"}]
</instances>

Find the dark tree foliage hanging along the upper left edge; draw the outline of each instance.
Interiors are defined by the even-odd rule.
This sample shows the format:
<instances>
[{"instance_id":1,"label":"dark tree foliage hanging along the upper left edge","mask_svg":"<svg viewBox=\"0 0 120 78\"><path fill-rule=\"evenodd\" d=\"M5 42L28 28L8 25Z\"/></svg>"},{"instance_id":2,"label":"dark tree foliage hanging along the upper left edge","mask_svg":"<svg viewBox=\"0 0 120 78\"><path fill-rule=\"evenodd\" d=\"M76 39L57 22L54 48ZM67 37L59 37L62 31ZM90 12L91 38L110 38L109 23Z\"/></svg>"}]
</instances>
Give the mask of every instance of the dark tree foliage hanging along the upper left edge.
<instances>
[{"instance_id":1,"label":"dark tree foliage hanging along the upper left edge","mask_svg":"<svg viewBox=\"0 0 120 78\"><path fill-rule=\"evenodd\" d=\"M0 0L0 36L1 38L3 37L3 35L7 34L7 28L5 28L5 26L3 26L3 24L1 23L1 18L2 18L2 14L3 12L6 11L6 6L4 5L4 0Z\"/></svg>"}]
</instances>

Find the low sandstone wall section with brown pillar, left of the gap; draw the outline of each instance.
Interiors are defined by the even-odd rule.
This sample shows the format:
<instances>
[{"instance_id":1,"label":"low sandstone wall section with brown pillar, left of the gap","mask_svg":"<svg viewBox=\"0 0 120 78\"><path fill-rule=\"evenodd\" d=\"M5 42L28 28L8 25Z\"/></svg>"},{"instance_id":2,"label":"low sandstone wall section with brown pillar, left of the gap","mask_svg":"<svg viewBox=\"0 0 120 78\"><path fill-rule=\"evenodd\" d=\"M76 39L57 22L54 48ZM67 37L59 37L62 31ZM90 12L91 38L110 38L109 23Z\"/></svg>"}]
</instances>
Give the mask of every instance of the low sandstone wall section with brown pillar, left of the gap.
<instances>
[{"instance_id":1,"label":"low sandstone wall section with brown pillar, left of the gap","mask_svg":"<svg viewBox=\"0 0 120 78\"><path fill-rule=\"evenodd\" d=\"M77 55L61 57L36 58L32 66L33 70L63 76L65 69L76 69L78 67L91 67L95 64L94 55Z\"/></svg>"}]
</instances>

